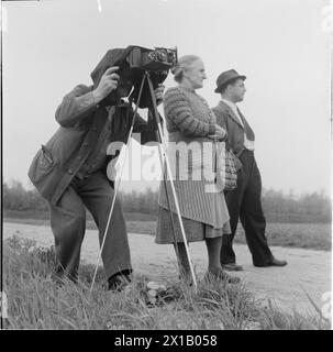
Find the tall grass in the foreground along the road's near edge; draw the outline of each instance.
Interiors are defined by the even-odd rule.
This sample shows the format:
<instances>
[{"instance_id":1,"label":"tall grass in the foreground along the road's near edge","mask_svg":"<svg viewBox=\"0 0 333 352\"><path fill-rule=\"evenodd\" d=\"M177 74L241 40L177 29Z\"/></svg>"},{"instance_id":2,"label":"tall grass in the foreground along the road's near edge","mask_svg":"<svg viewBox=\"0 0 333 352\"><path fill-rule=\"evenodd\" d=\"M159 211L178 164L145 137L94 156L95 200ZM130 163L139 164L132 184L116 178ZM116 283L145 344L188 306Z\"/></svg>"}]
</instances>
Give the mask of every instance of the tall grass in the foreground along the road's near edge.
<instances>
[{"instance_id":1,"label":"tall grass in the foreground along the road's near edge","mask_svg":"<svg viewBox=\"0 0 333 352\"><path fill-rule=\"evenodd\" d=\"M12 238L3 245L3 284L8 296L7 329L329 329L320 315L287 314L258 300L244 285L199 283L195 294L169 280L164 297L148 300L148 277L135 276L123 293L106 290L100 271L91 296L92 265L81 265L80 282L56 286L53 249Z\"/></svg>"}]
</instances>

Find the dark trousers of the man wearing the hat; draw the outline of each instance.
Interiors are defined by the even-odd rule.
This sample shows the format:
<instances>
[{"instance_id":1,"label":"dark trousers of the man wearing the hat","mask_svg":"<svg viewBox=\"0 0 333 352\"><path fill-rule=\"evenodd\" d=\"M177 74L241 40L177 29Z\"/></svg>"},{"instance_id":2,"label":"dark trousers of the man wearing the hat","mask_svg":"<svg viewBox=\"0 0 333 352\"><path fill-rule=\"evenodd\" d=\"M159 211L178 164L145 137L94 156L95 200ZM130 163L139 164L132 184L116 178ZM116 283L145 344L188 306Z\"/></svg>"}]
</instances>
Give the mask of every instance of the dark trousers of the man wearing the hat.
<instances>
[{"instance_id":1,"label":"dark trousers of the man wearing the hat","mask_svg":"<svg viewBox=\"0 0 333 352\"><path fill-rule=\"evenodd\" d=\"M262 178L253 152L244 150L240 160L243 167L237 173L237 188L225 193L232 233L223 234L221 264L236 262L232 244L241 219L253 264L265 266L271 262L273 254L265 237Z\"/></svg>"}]
</instances>

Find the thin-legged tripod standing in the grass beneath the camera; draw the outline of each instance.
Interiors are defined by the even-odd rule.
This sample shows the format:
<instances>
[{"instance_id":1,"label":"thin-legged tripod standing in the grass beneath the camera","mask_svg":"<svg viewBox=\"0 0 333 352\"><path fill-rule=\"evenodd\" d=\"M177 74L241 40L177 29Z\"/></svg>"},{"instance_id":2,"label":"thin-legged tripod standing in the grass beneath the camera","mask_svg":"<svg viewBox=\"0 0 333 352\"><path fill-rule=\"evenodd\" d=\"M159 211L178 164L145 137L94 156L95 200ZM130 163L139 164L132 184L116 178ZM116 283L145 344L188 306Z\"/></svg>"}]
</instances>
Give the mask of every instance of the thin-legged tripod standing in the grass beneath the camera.
<instances>
[{"instance_id":1,"label":"thin-legged tripod standing in the grass beneath the camera","mask_svg":"<svg viewBox=\"0 0 333 352\"><path fill-rule=\"evenodd\" d=\"M148 84L149 95L151 95L151 99L152 99L152 102L153 102L153 107L151 107L151 109L152 109L151 111L153 113L153 119L155 120L155 123L157 125L157 130L155 131L155 134L156 134L156 140L158 142L158 152L159 152L158 155L159 155L160 166L162 166L162 169L163 169L163 183L164 183L165 193L166 193L166 199L167 199L169 213L170 213L173 234L174 234L174 240L175 240L175 250L176 250L177 262L178 262L178 266L179 266L179 271L180 271L180 276L182 277L182 266L181 266L181 262L180 262L179 250L178 250L178 244L177 244L177 239L176 239L175 222L174 222L173 212L171 212L171 208L170 208L170 198L169 198L169 194L168 194L168 189L167 189L166 179L164 177L165 173L164 173L163 160L165 160L166 172L167 172L167 176L168 176L169 182L170 182L171 193L173 193L173 196L174 196L175 207L176 207L177 217L178 217L178 221L179 221L179 226L180 226L180 232L181 232L184 245L185 245L185 249L186 249L186 255L187 255L187 260L188 260L189 267L190 267L191 278L192 278L195 290L197 292L197 287L198 287L197 286L197 279L196 279L192 262L191 262L191 258L190 258L189 248L188 248L188 244L187 244L187 239L186 239L185 229L184 229L184 224L182 224L182 219L181 219L181 215L180 215L178 197L177 197L175 185L174 185L174 180L173 180L173 174L171 174L171 169L170 169L170 164L169 164L169 160L167 157L166 143L165 143L165 140L164 140L164 133L163 133L162 124L160 124L160 121L159 121L159 118L158 118L158 111L157 111L157 105L156 105L156 99L155 99L155 95L154 95L153 82L152 82L152 79L151 79L151 76L149 76L149 72L147 72L147 70L145 70L143 79L141 81L140 91L138 91L138 96L137 96L137 102L136 102L136 107L135 107L135 110L134 110L134 113L133 113L133 119L132 119L132 123L131 123L131 128L130 128L130 132L129 132L129 136L127 136L127 141L126 141L125 156L123 158L123 165L122 165L121 170L120 170L120 180L121 180L121 176L122 176L122 173L123 173L123 169L124 169L124 165L125 165L125 161L126 161L126 157L127 157L130 143L131 143L131 136L132 136L133 129L134 129L134 122L135 122L135 118L137 116L137 109L138 109L138 106L140 106L140 100L141 100L141 97L142 97L142 91L143 91L143 87L144 87L144 82L145 81L147 81L147 84ZM108 233L108 229L109 229L109 226L110 226L111 216L112 216L112 212L113 212L114 202L115 202L115 199L116 199L119 187L120 187L120 182L118 183L118 185L115 186L115 189L114 189L113 199L112 199L112 204L111 204L111 208L110 208L110 212L109 212L109 217L108 217L108 222L107 222L107 226L106 226L106 229L104 229L102 243L101 243L98 261L97 261L95 273L93 273L93 277L92 277L92 283L91 283L91 287L90 287L90 294L92 292L93 284L95 284L95 280L96 280L97 271L98 271L98 266L99 266L99 263L100 263L101 254L102 254L102 251L103 251L103 248L104 248L104 242L106 242L106 239L107 239L107 233Z\"/></svg>"}]
</instances>

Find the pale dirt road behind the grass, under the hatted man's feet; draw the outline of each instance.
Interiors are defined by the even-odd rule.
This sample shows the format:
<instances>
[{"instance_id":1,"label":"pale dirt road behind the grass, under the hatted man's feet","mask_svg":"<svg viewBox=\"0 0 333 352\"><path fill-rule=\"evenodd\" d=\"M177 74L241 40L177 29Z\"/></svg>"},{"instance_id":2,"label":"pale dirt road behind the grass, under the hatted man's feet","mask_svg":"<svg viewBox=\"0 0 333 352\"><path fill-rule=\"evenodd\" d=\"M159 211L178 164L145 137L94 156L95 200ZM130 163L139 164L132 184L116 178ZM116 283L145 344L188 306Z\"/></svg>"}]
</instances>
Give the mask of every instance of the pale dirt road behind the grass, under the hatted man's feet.
<instances>
[{"instance_id":1,"label":"pale dirt road behind the grass, under the hatted man's feet","mask_svg":"<svg viewBox=\"0 0 333 352\"><path fill-rule=\"evenodd\" d=\"M49 227L22 223L3 223L3 239L20 235L35 240L41 246L53 244ZM135 272L144 273L152 279L163 279L178 275L177 263L171 245L157 245L154 238L145 234L130 234L132 263ZM98 256L98 237L93 230L87 230L82 245L81 261L96 263ZM237 275L244 279L248 289L257 297L267 297L284 309L300 312L313 312L302 288L321 308L328 300L322 300L324 293L331 292L331 253L301 249L271 248L274 255L288 261L285 267L259 268L252 265L246 245L235 245L237 262L244 272ZM190 254L199 279L207 268L207 251L203 242L190 244ZM328 299L328 298L326 298Z\"/></svg>"}]
</instances>

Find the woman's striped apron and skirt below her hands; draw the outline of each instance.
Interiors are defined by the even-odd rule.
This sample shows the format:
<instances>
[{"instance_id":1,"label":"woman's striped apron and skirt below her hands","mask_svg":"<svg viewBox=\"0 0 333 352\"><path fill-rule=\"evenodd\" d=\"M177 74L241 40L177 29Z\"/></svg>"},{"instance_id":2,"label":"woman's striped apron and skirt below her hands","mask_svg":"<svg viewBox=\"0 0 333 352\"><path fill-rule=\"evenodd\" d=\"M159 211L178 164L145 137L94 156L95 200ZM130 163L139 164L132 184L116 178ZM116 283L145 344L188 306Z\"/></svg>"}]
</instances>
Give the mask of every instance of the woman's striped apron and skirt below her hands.
<instances>
[{"instance_id":1,"label":"woman's striped apron and skirt below her hands","mask_svg":"<svg viewBox=\"0 0 333 352\"><path fill-rule=\"evenodd\" d=\"M170 167L173 182L188 242L231 233L224 194L217 189L213 177L207 177L207 175L211 176L209 172L213 169L213 157L210 157L212 143L203 142L190 144L180 142L168 146L168 160L173 166ZM191 153L188 152L189 146ZM177 153L176 148L178 148ZM159 185L159 213L155 241L156 243L175 242L170 208L176 240L182 242L171 183L167 177L166 169L164 179L165 183L162 182Z\"/></svg>"}]
</instances>

